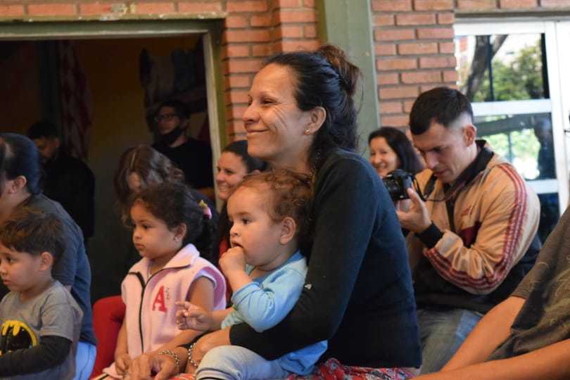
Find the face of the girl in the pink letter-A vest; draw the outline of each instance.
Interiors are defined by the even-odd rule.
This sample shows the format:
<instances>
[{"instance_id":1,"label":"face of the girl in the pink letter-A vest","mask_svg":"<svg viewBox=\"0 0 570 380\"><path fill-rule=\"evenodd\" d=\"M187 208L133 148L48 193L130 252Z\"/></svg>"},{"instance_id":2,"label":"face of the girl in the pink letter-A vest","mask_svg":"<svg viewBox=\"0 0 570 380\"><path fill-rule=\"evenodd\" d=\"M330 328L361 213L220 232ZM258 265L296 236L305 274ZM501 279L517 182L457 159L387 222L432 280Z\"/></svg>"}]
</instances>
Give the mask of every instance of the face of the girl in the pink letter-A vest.
<instances>
[{"instance_id":1,"label":"face of the girl in the pink letter-A vest","mask_svg":"<svg viewBox=\"0 0 570 380\"><path fill-rule=\"evenodd\" d=\"M132 206L131 220L134 224L132 242L144 258L164 258L182 247L183 236L168 229L163 220L149 213L141 203Z\"/></svg>"}]
</instances>

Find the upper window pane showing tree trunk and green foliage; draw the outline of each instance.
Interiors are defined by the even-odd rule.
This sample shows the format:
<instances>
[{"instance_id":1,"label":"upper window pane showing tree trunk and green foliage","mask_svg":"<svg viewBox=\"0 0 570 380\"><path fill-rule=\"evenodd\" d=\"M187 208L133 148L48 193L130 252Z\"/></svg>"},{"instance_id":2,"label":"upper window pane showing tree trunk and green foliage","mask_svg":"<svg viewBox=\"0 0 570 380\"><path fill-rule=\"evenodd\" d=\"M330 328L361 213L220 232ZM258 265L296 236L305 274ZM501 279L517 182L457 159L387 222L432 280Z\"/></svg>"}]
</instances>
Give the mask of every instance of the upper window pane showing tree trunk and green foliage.
<instances>
[{"instance_id":1,"label":"upper window pane showing tree trunk and green foliage","mask_svg":"<svg viewBox=\"0 0 570 380\"><path fill-rule=\"evenodd\" d=\"M455 38L459 87L470 101L548 99L544 34Z\"/></svg>"}]
</instances>

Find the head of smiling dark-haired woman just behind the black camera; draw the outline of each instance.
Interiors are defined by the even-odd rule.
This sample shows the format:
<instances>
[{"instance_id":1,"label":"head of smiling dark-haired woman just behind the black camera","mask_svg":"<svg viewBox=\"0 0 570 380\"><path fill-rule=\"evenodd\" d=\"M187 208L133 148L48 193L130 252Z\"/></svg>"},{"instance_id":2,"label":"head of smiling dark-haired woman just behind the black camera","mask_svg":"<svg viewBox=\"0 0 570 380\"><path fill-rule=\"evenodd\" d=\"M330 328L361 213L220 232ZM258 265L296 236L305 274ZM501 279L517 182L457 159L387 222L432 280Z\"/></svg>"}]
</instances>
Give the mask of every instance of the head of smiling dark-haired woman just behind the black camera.
<instances>
[{"instance_id":1,"label":"head of smiling dark-haired woman just behind the black camera","mask_svg":"<svg viewBox=\"0 0 570 380\"><path fill-rule=\"evenodd\" d=\"M415 175L423 170L414 147L404 132L393 127L381 127L368 137L370 163L380 177L396 169Z\"/></svg>"}]
</instances>

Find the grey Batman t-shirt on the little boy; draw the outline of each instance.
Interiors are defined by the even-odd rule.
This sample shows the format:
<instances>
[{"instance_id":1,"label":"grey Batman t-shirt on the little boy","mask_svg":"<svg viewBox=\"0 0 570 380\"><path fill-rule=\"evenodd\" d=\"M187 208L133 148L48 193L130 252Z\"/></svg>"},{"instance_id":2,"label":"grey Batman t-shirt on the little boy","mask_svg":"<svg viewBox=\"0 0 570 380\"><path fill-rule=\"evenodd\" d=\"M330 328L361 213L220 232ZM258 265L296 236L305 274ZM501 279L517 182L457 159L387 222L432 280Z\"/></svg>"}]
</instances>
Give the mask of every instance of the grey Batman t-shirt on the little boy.
<instances>
[{"instance_id":1,"label":"grey Batman t-shirt on the little boy","mask_svg":"<svg viewBox=\"0 0 570 380\"><path fill-rule=\"evenodd\" d=\"M35 344L42 340L42 336L61 336L72 341L70 353L61 365L35 374L11 376L6 379L73 379L82 317L81 308L58 281L54 281L44 293L25 302L20 300L17 292L6 294L0 303L0 331L4 331L4 327L7 329L9 326L19 326L27 332L18 334L29 334L30 340Z\"/></svg>"}]
</instances>

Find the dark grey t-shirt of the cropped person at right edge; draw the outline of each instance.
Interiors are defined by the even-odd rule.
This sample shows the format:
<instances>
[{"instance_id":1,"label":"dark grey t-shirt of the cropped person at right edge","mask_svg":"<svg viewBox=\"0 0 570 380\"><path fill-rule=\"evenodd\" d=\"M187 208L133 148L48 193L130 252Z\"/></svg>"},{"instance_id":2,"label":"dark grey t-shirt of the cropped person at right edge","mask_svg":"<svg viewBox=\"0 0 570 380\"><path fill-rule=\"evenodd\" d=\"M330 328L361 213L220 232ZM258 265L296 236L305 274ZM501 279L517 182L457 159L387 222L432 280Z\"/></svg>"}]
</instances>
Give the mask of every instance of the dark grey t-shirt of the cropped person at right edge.
<instances>
[{"instance_id":1,"label":"dark grey t-shirt of the cropped person at right edge","mask_svg":"<svg viewBox=\"0 0 570 380\"><path fill-rule=\"evenodd\" d=\"M526 301L510 336L488 360L522 355L570 337L570 209L512 296Z\"/></svg>"}]
</instances>

